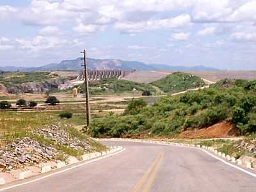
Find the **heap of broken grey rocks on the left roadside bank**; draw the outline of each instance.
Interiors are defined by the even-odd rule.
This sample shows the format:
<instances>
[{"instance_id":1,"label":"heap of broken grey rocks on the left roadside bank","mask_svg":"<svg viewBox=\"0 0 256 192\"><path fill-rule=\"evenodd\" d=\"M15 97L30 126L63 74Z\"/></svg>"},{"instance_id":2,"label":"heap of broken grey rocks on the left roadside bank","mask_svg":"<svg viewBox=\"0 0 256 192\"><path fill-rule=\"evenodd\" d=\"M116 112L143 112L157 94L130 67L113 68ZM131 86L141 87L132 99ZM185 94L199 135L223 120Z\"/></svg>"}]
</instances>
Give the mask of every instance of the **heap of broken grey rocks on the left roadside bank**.
<instances>
[{"instance_id":1,"label":"heap of broken grey rocks on the left roadside bank","mask_svg":"<svg viewBox=\"0 0 256 192\"><path fill-rule=\"evenodd\" d=\"M36 141L36 138L41 139ZM44 142L41 142L42 140ZM49 143L46 141L49 141ZM38 166L48 161L60 160L60 157L62 161L67 161L69 155L65 154L61 147L84 152L84 154L94 152L92 143L89 141L76 138L62 129L61 125L47 125L43 129L31 131L30 137L22 138L1 147L0 172L17 170L26 166Z\"/></svg>"}]
</instances>

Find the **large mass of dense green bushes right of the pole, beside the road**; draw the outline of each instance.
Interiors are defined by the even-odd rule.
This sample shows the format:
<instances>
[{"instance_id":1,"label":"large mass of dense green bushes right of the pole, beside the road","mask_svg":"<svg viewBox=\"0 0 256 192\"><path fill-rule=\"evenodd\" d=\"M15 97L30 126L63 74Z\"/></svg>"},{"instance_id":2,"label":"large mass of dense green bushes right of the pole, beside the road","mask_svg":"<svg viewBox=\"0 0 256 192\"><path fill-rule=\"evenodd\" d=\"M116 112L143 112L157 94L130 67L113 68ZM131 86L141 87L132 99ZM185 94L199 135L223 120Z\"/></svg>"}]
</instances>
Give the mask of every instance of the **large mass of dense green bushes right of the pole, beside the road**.
<instances>
[{"instance_id":1,"label":"large mass of dense green bushes right of the pole, beside the road","mask_svg":"<svg viewBox=\"0 0 256 192\"><path fill-rule=\"evenodd\" d=\"M218 84L162 97L152 106L138 107L133 100L122 115L94 119L89 133L95 137L173 136L226 119L237 125L240 134L256 132L256 80L236 80L228 87Z\"/></svg>"}]
</instances>

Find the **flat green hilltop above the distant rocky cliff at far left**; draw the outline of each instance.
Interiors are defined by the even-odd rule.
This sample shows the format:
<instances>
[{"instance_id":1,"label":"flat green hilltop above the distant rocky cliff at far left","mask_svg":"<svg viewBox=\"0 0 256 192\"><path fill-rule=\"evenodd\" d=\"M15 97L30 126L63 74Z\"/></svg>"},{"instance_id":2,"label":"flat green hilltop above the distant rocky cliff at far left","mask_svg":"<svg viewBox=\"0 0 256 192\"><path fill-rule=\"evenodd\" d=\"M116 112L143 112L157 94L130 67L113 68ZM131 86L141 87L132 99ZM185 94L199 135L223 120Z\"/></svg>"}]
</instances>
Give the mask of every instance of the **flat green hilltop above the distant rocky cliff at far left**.
<instances>
[{"instance_id":1,"label":"flat green hilltop above the distant rocky cliff at far left","mask_svg":"<svg viewBox=\"0 0 256 192\"><path fill-rule=\"evenodd\" d=\"M12 86L19 86L22 83L42 82L56 77L58 75L51 74L51 72L5 72L0 74L0 83L6 86L6 88L10 88Z\"/></svg>"}]
</instances>

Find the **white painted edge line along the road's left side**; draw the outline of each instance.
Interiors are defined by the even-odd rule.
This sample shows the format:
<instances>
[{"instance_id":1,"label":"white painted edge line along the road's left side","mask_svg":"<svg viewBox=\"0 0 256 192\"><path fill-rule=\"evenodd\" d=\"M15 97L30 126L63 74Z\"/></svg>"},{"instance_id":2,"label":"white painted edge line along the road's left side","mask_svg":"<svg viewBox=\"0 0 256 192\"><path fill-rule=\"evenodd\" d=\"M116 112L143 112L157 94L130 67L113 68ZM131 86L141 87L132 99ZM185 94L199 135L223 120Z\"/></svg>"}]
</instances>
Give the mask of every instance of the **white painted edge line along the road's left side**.
<instances>
[{"instance_id":1,"label":"white painted edge line along the road's left side","mask_svg":"<svg viewBox=\"0 0 256 192\"><path fill-rule=\"evenodd\" d=\"M7 187L7 188L3 188L3 189L0 188L0 191L5 191L5 190L7 190L7 189L17 188L17 187L20 187L20 186L24 186L24 185L26 185L26 184L31 184L31 183L36 182L36 181L38 181L38 180L46 179L46 178L51 177L51 176L53 176L53 175L58 175L58 174L60 174L60 173L67 172L67 171L69 171L69 170L73 170L74 168L78 168L78 167L80 167L80 166L83 166L84 164L93 163L93 162L95 162L95 161L99 161L99 160L105 159L105 158L107 158L107 157L115 156L116 154L120 154L120 153L124 152L125 150L126 150L126 148L123 148L122 150L120 150L120 151L118 151L118 152L115 152L115 153L113 153L113 154L108 154L108 155L106 155L106 156L102 156L102 157L99 157L99 158L97 158L97 159L92 159L92 160L90 160L90 161L86 161L86 162L84 162L84 163L77 164L76 166L72 166L72 167L67 168L67 169L65 169L65 170L61 170L60 172L51 173L51 174L49 174L49 175L45 175L44 177L40 177L40 178L38 178L38 179L29 180L28 182L23 182L23 183L21 183L21 184L17 184L17 185L14 185L14 186L9 186L9 187Z\"/></svg>"}]
</instances>

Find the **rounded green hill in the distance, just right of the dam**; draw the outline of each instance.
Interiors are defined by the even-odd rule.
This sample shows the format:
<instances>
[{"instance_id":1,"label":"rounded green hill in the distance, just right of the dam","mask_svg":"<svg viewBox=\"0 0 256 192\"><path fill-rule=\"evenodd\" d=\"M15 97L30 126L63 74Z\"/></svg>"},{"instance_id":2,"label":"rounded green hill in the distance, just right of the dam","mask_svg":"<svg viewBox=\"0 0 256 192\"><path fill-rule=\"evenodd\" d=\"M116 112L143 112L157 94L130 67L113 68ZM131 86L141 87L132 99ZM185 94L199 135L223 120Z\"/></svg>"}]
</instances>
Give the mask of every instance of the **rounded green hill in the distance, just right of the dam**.
<instances>
[{"instance_id":1,"label":"rounded green hill in the distance, just right of the dam","mask_svg":"<svg viewBox=\"0 0 256 192\"><path fill-rule=\"evenodd\" d=\"M183 92L188 89L205 86L204 81L200 77L183 72L175 72L151 84L157 86L166 93Z\"/></svg>"}]
</instances>

